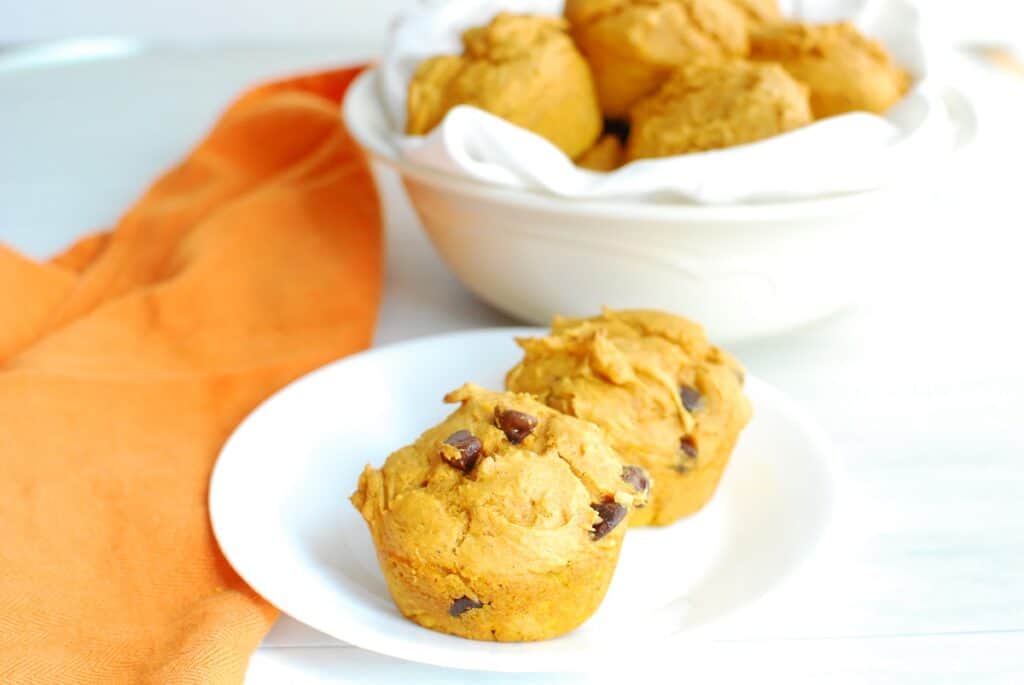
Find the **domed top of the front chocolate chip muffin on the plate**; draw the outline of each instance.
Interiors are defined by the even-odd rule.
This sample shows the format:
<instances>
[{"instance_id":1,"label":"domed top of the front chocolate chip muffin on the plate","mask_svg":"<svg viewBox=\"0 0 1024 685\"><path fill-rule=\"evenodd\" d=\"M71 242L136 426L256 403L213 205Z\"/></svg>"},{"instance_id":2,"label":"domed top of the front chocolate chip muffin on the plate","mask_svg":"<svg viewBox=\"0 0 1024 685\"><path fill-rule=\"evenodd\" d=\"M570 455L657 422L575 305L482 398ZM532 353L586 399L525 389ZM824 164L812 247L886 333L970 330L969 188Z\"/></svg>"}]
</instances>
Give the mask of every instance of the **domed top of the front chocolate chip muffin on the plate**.
<instances>
[{"instance_id":1,"label":"domed top of the front chocolate chip muffin on the plate","mask_svg":"<svg viewBox=\"0 0 1024 685\"><path fill-rule=\"evenodd\" d=\"M543 573L617 545L646 474L593 424L467 384L461 406L367 467L352 504L389 549L474 576Z\"/></svg>"}]
</instances>

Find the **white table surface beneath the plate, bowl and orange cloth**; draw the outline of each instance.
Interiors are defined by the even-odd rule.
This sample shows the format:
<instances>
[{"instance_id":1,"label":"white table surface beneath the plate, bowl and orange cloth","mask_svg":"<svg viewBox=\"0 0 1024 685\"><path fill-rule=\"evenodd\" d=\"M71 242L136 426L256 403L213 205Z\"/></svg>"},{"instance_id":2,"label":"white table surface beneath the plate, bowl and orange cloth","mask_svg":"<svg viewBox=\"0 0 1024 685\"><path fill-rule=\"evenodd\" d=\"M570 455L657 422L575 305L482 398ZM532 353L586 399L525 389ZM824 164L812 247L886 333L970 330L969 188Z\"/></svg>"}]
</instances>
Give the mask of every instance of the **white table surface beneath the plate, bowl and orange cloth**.
<instances>
[{"instance_id":1,"label":"white table surface beneath the plate, bowl and orange cloth","mask_svg":"<svg viewBox=\"0 0 1024 685\"><path fill-rule=\"evenodd\" d=\"M109 225L244 85L375 47L161 48L47 67L0 52L0 241L42 257ZM892 242L864 264L864 303L733 348L843 453L841 515L798 575L662 662L624 654L622 673L428 668L283 617L248 682L1024 682L1024 80L967 60L950 80L978 109L979 137L912 218L894 217ZM381 180L377 343L511 323L447 273L395 179Z\"/></svg>"}]
</instances>

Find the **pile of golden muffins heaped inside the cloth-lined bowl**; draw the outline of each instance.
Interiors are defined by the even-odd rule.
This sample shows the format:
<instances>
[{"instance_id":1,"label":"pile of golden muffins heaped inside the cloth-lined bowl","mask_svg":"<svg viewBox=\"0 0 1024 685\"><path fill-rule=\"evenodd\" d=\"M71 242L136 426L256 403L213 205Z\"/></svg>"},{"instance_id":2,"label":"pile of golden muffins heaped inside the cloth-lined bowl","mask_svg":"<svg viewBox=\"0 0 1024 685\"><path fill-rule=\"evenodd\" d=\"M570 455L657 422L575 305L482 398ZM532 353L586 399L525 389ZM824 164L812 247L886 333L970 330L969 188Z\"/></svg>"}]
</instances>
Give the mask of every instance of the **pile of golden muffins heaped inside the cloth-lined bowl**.
<instances>
[{"instance_id":1,"label":"pile of golden muffins heaped inside the cloth-lined bowl","mask_svg":"<svg viewBox=\"0 0 1024 685\"><path fill-rule=\"evenodd\" d=\"M595 171L882 114L910 83L852 24L787 22L777 0L567 0L564 17L502 13L463 45L416 71L407 133L475 105Z\"/></svg>"}]
</instances>

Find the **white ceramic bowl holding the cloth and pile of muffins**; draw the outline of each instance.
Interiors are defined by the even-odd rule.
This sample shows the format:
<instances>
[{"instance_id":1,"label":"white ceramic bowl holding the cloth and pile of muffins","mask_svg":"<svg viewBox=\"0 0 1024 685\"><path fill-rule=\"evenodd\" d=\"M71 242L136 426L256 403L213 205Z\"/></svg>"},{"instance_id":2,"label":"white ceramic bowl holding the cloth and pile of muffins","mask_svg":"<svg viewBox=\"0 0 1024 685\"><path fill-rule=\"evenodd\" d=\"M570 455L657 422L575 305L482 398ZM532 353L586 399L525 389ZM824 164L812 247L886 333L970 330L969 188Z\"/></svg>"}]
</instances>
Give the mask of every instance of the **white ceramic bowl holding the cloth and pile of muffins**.
<instances>
[{"instance_id":1,"label":"white ceramic bowl holding the cloth and pile of muffins","mask_svg":"<svg viewBox=\"0 0 1024 685\"><path fill-rule=\"evenodd\" d=\"M399 159L376 88L373 71L352 85L343 115L352 135L401 175L458 277L535 324L608 305L674 311L723 343L781 333L854 301L906 205L895 190L695 206L488 185Z\"/></svg>"}]
</instances>

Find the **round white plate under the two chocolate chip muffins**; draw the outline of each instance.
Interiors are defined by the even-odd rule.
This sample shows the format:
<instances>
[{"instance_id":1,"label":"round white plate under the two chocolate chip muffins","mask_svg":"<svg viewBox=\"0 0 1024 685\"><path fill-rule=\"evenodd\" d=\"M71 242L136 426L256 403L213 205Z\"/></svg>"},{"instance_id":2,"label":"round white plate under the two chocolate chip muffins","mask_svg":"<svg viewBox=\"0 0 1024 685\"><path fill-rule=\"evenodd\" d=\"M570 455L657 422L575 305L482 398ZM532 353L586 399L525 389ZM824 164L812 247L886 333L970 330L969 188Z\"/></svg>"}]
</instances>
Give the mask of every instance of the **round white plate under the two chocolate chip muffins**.
<instances>
[{"instance_id":1,"label":"round white plate under the two chocolate chip muffins","mask_svg":"<svg viewBox=\"0 0 1024 685\"><path fill-rule=\"evenodd\" d=\"M692 635L811 553L833 502L830 447L790 400L751 378L755 418L715 499L670 527L631 530L604 603L582 628L501 644L403 618L348 496L365 464L379 466L453 411L444 392L467 380L500 389L520 358L514 336L539 332L490 329L382 347L268 399L213 471L210 516L228 561L271 603L355 646L437 666L537 672L591 670Z\"/></svg>"}]
</instances>

